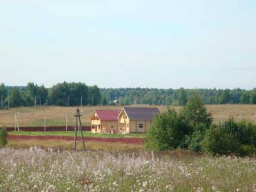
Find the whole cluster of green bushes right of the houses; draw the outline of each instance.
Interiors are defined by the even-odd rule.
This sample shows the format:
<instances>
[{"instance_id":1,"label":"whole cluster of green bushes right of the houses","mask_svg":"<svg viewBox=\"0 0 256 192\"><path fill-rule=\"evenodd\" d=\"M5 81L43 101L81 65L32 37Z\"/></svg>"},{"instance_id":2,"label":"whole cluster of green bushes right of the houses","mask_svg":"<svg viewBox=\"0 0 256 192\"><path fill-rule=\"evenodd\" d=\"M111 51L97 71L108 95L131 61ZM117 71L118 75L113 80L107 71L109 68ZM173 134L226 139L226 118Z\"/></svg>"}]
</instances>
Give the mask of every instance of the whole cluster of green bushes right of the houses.
<instances>
[{"instance_id":1,"label":"whole cluster of green bushes right of the houses","mask_svg":"<svg viewBox=\"0 0 256 192\"><path fill-rule=\"evenodd\" d=\"M253 155L256 152L256 133L253 124L233 118L223 125L212 125L200 96L194 93L180 113L168 109L154 118L146 134L150 150L183 148L213 155Z\"/></svg>"}]
</instances>

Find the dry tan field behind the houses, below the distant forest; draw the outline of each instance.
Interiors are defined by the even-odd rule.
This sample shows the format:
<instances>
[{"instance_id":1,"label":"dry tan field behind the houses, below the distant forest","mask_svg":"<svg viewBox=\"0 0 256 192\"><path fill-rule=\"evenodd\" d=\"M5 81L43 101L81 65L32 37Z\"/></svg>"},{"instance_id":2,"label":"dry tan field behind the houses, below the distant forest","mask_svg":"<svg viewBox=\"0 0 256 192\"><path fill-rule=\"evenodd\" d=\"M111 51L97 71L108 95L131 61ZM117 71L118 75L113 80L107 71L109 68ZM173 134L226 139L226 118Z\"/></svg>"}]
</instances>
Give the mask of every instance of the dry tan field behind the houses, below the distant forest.
<instances>
[{"instance_id":1,"label":"dry tan field behind the houses, below the distant forest","mask_svg":"<svg viewBox=\"0 0 256 192\"><path fill-rule=\"evenodd\" d=\"M166 106L157 106L161 112L166 110ZM83 126L90 125L90 116L95 109L120 109L119 106L85 106L80 108L82 112L82 124ZM170 108L180 110L180 106L170 106ZM214 123L220 121L220 110L223 111L223 120L234 116L237 120L243 118L250 121L254 121L254 111L256 111L256 105L207 105L207 110L212 113ZM0 127L13 127L14 126L14 113L18 113L19 126L44 126L44 116L46 116L47 126L63 126L65 125L66 114L68 116L68 125L72 126L75 124L74 113L76 107L59 107L49 106L42 108L12 108L10 110L0 110Z\"/></svg>"}]
</instances>

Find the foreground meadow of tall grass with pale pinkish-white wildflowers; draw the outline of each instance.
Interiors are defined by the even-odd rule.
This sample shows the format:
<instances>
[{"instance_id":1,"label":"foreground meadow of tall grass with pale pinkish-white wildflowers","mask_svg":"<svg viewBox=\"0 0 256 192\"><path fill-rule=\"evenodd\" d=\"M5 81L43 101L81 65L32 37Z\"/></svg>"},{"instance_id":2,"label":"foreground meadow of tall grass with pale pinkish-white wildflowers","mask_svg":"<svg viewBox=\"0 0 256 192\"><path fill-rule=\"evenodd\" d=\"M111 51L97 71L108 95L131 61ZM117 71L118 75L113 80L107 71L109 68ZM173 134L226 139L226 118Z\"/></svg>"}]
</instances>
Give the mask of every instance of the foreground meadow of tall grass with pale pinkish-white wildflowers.
<instances>
[{"instance_id":1,"label":"foreground meadow of tall grass with pale pinkish-white wildflowers","mask_svg":"<svg viewBox=\"0 0 256 192\"><path fill-rule=\"evenodd\" d=\"M255 173L255 159L184 151L0 150L0 191L256 191Z\"/></svg>"}]
</instances>

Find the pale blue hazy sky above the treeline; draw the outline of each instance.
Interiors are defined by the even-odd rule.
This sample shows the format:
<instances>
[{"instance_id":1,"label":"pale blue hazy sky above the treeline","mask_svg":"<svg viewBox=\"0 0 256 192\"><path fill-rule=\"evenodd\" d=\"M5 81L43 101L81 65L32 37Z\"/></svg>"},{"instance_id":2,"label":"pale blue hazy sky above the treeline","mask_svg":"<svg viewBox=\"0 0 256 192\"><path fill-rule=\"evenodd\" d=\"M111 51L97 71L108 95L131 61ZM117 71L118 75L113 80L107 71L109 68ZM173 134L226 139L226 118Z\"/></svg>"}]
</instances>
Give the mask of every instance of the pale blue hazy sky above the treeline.
<instances>
[{"instance_id":1,"label":"pale blue hazy sky above the treeline","mask_svg":"<svg viewBox=\"0 0 256 192\"><path fill-rule=\"evenodd\" d=\"M0 83L256 87L254 0L0 0Z\"/></svg>"}]
</instances>

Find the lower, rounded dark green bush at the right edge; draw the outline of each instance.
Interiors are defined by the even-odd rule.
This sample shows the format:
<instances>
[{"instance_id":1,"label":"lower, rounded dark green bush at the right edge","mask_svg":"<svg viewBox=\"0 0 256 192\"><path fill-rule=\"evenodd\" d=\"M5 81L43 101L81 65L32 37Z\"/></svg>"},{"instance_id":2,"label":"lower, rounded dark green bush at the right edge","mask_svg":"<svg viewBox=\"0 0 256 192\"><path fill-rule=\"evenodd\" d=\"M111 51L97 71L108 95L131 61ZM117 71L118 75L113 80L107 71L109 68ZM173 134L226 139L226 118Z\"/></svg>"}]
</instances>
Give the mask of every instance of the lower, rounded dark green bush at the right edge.
<instances>
[{"instance_id":1,"label":"lower, rounded dark green bush at the right edge","mask_svg":"<svg viewBox=\"0 0 256 192\"><path fill-rule=\"evenodd\" d=\"M255 141L256 134L252 123L245 120L235 122L230 118L223 125L209 129L202 145L205 152L213 155L248 156L255 154Z\"/></svg>"}]
</instances>

